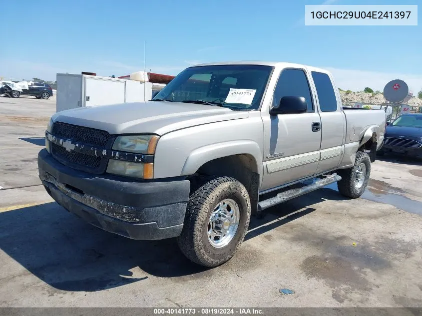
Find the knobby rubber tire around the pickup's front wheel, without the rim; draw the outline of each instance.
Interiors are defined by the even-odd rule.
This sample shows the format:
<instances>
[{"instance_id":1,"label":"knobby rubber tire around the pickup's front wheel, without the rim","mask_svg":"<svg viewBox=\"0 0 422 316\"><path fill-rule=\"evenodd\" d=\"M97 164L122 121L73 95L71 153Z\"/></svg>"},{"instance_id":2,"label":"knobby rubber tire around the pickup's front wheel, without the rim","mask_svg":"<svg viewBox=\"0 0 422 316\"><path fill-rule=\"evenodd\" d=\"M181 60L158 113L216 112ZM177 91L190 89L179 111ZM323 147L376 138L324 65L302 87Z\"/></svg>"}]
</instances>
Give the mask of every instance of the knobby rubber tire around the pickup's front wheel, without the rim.
<instances>
[{"instance_id":1,"label":"knobby rubber tire around the pickup's front wheel, without the rim","mask_svg":"<svg viewBox=\"0 0 422 316\"><path fill-rule=\"evenodd\" d=\"M224 199L233 199L237 203L240 211L239 226L226 246L215 248L208 241L208 221L216 205ZM207 178L205 184L192 190L177 243L182 253L192 262L204 267L219 266L236 253L245 238L250 217L251 202L243 184L230 177Z\"/></svg>"}]
</instances>

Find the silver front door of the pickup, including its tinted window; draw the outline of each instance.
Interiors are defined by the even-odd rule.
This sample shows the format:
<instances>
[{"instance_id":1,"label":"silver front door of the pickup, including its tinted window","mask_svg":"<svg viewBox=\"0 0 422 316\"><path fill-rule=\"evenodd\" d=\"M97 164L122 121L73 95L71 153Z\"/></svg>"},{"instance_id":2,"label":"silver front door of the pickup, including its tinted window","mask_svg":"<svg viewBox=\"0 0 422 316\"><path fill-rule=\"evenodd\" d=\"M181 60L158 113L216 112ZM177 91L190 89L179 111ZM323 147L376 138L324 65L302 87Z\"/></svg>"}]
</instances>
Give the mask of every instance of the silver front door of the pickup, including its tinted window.
<instances>
[{"instance_id":1,"label":"silver front door of the pickup, including its tinted window","mask_svg":"<svg viewBox=\"0 0 422 316\"><path fill-rule=\"evenodd\" d=\"M264 122L264 176L261 191L312 176L320 160L320 115L314 105L309 74L305 69L286 68L274 89L272 106L283 96L303 96L308 112L270 115Z\"/></svg>"}]
</instances>

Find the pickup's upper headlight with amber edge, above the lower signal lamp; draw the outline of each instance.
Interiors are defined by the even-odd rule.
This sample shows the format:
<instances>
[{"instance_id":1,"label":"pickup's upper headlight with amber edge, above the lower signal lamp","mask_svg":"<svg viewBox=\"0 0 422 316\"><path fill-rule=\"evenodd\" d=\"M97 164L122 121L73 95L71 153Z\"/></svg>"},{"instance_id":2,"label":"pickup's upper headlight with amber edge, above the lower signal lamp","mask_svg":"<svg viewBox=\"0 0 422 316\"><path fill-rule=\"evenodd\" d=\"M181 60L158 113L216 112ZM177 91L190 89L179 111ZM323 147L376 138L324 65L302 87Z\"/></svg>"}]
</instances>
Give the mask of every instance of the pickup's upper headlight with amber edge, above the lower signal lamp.
<instances>
[{"instance_id":1,"label":"pickup's upper headlight with amber edge, above the lower signal lamp","mask_svg":"<svg viewBox=\"0 0 422 316\"><path fill-rule=\"evenodd\" d=\"M136 154L152 155L155 152L158 138L156 135L119 136L113 143L113 149Z\"/></svg>"}]
</instances>

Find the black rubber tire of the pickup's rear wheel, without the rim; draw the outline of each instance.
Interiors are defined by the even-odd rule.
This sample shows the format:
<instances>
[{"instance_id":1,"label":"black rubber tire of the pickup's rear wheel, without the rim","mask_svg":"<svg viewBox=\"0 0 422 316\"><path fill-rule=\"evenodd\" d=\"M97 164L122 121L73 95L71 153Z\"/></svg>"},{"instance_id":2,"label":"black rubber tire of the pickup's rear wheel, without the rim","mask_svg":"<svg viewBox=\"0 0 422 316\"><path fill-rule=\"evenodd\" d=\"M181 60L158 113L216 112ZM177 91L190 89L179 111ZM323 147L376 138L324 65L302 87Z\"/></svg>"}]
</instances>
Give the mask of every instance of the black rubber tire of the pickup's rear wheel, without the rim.
<instances>
[{"instance_id":1,"label":"black rubber tire of the pickup's rear wheel, without the rim","mask_svg":"<svg viewBox=\"0 0 422 316\"><path fill-rule=\"evenodd\" d=\"M356 171L361 163L364 163L366 166L366 174L362 187L357 189L355 187ZM359 198L368 186L369 177L371 175L371 159L366 152L358 151L356 153L354 166L349 169L337 170L337 174L342 177L342 180L337 182L339 192L352 199Z\"/></svg>"}]
</instances>

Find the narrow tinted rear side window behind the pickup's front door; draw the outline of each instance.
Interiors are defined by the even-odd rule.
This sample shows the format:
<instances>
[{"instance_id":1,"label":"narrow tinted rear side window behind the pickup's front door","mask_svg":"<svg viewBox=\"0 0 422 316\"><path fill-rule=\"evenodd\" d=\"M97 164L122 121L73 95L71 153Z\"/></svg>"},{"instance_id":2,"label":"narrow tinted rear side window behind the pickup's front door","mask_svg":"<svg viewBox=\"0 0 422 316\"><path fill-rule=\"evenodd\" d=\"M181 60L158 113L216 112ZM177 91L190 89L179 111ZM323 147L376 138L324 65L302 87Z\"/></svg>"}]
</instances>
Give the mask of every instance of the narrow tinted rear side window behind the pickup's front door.
<instances>
[{"instance_id":1,"label":"narrow tinted rear side window behind the pickup's front door","mask_svg":"<svg viewBox=\"0 0 422 316\"><path fill-rule=\"evenodd\" d=\"M321 112L336 112L337 99L330 77L326 73L312 71L312 78L317 88Z\"/></svg>"}]
</instances>

